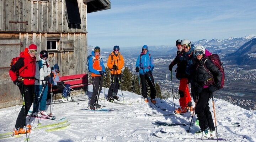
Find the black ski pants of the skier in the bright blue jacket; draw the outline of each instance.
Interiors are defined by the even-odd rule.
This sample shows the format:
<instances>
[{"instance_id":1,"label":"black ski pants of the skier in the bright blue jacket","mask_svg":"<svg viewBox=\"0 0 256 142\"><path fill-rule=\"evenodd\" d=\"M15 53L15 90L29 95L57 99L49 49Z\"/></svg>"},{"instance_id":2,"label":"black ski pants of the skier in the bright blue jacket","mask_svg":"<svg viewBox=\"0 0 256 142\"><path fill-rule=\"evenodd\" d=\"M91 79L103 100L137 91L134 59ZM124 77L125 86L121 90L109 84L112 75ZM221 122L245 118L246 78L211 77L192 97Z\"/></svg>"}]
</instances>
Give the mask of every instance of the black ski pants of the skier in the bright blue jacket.
<instances>
[{"instance_id":1,"label":"black ski pants of the skier in the bright blue jacket","mask_svg":"<svg viewBox=\"0 0 256 142\"><path fill-rule=\"evenodd\" d=\"M146 92L146 81L147 81L150 88L150 98L155 99L156 90L155 90L154 78L151 73L149 77L148 75L140 74L140 82L142 83L142 96L143 98L147 97L147 92ZM150 79L152 82L150 81Z\"/></svg>"}]
</instances>

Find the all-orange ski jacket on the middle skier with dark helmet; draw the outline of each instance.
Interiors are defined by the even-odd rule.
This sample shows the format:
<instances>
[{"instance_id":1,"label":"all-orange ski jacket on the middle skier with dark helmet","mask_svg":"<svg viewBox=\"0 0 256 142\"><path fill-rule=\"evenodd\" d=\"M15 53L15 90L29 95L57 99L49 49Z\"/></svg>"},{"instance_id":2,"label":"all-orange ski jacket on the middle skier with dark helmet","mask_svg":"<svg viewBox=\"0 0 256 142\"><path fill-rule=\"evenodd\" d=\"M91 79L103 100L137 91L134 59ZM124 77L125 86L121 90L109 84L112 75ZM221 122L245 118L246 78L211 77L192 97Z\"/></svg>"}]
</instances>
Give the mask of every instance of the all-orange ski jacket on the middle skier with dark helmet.
<instances>
[{"instance_id":1,"label":"all-orange ski jacket on the middle skier with dark helmet","mask_svg":"<svg viewBox=\"0 0 256 142\"><path fill-rule=\"evenodd\" d=\"M113 65L116 65L118 67L117 73L116 70L113 70ZM107 67L110 69L110 73L113 74L120 74L122 71L122 68L124 66L124 60L123 56L120 52L118 52L117 55L114 54L114 51L111 52L111 54L108 56L108 62Z\"/></svg>"}]
</instances>

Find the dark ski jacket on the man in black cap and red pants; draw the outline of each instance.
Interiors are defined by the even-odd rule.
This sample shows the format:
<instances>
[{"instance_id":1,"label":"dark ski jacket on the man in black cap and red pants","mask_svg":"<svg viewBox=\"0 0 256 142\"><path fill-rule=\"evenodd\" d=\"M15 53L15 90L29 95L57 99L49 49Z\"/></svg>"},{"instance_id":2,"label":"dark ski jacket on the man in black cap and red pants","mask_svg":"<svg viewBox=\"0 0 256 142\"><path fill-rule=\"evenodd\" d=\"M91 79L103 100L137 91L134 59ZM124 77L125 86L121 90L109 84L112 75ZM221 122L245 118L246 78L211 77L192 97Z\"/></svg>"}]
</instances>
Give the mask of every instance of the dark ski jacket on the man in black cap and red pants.
<instances>
[{"instance_id":1,"label":"dark ski jacket on the man in black cap and red pants","mask_svg":"<svg viewBox=\"0 0 256 142\"><path fill-rule=\"evenodd\" d=\"M188 78L186 73L187 60L183 59L183 51L177 51L176 58L171 62L172 67L177 64L176 77L180 80L181 78Z\"/></svg>"}]
</instances>

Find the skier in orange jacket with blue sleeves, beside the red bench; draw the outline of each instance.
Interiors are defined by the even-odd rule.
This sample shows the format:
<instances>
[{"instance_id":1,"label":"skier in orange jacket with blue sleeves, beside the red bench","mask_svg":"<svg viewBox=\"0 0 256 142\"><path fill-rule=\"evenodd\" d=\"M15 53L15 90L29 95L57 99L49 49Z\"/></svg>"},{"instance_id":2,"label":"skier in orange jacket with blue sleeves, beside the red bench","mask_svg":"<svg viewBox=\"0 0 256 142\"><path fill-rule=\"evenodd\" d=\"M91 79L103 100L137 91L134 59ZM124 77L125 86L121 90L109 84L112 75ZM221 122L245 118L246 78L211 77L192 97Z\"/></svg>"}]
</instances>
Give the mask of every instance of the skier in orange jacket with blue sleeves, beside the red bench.
<instances>
[{"instance_id":1,"label":"skier in orange jacket with blue sleeves, beside the red bench","mask_svg":"<svg viewBox=\"0 0 256 142\"><path fill-rule=\"evenodd\" d=\"M101 105L97 103L98 95L100 95L102 89L103 78L102 75L106 75L105 66L100 55L100 47L96 46L94 51L91 52L92 56L89 58L88 66L91 72L92 82L93 82L93 92L90 100L89 107L94 110L100 108Z\"/></svg>"}]
</instances>

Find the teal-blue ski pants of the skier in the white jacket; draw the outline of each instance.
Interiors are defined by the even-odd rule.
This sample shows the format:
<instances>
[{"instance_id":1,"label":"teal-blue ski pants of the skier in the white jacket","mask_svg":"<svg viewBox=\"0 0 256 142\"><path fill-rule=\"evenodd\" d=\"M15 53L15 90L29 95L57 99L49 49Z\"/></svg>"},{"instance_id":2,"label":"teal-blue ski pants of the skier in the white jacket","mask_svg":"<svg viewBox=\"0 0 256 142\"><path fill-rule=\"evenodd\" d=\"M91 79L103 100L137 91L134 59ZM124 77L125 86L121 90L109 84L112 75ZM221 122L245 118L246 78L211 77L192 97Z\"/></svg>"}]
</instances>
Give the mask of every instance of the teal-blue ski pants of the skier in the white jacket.
<instances>
[{"instance_id":1,"label":"teal-blue ski pants of the skier in the white jacket","mask_svg":"<svg viewBox=\"0 0 256 142\"><path fill-rule=\"evenodd\" d=\"M40 111L45 111L46 110L46 99L47 99L47 93L48 93L48 83L46 82L46 86L44 87L44 85L35 85L35 97L34 97L34 107L33 107L33 111L37 112L38 109ZM42 94L41 94L42 92ZM41 96L40 96L41 94ZM39 107L39 103L40 103L40 107ZM38 108L39 107L39 108Z\"/></svg>"}]
</instances>

